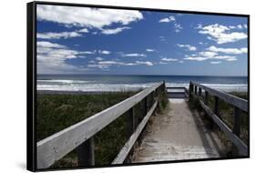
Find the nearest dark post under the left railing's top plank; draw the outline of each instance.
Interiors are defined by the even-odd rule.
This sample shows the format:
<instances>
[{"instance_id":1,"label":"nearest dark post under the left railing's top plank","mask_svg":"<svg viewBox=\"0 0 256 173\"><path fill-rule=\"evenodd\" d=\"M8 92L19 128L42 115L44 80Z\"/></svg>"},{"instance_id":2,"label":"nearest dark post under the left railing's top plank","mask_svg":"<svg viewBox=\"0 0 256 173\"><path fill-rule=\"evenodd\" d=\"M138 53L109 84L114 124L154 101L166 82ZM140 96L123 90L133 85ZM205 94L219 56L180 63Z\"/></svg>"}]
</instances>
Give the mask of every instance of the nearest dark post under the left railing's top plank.
<instances>
[{"instance_id":1,"label":"nearest dark post under the left railing's top plank","mask_svg":"<svg viewBox=\"0 0 256 173\"><path fill-rule=\"evenodd\" d=\"M94 139L88 138L84 143L76 148L79 167L94 166Z\"/></svg>"}]
</instances>

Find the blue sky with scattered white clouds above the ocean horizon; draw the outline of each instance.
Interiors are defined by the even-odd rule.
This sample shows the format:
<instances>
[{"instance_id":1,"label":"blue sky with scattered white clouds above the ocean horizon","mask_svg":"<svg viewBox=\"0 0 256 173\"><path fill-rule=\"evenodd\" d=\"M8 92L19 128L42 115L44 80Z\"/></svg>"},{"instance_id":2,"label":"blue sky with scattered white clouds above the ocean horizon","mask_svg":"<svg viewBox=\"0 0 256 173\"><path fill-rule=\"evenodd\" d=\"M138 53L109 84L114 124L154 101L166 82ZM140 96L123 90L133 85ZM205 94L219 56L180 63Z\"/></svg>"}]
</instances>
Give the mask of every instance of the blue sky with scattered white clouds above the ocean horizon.
<instances>
[{"instance_id":1,"label":"blue sky with scattered white clouds above the ocean horizon","mask_svg":"<svg viewBox=\"0 0 256 173\"><path fill-rule=\"evenodd\" d=\"M37 5L38 74L247 76L247 18Z\"/></svg>"}]
</instances>

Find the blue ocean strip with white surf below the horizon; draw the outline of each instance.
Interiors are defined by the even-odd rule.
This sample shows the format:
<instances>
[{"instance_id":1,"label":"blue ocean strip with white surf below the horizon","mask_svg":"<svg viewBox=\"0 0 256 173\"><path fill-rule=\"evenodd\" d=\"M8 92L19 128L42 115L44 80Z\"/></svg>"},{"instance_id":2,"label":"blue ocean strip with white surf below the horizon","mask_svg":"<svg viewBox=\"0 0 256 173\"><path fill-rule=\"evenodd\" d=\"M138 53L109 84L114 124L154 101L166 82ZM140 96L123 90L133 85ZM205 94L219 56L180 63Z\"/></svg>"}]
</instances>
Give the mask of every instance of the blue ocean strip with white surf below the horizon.
<instances>
[{"instance_id":1,"label":"blue ocean strip with white surf below the horizon","mask_svg":"<svg viewBox=\"0 0 256 173\"><path fill-rule=\"evenodd\" d=\"M166 86L189 87L189 81L225 92L248 91L247 76L121 76L121 75L37 75L37 90L127 91L165 81Z\"/></svg>"}]
</instances>

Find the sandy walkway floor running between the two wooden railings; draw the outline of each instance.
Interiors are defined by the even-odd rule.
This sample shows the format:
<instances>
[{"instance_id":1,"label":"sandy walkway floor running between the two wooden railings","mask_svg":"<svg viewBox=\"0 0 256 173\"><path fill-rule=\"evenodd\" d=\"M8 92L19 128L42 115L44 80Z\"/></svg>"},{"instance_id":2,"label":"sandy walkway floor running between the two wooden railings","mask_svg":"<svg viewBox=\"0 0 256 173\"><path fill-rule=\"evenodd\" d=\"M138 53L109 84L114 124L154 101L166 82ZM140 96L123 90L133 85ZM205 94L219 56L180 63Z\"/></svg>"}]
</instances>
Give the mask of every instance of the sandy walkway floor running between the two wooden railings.
<instances>
[{"instance_id":1,"label":"sandy walkway floor running between the two wooden railings","mask_svg":"<svg viewBox=\"0 0 256 173\"><path fill-rule=\"evenodd\" d=\"M151 117L132 162L220 158L221 150L220 139L190 111L186 99L171 98L164 114Z\"/></svg>"}]
</instances>

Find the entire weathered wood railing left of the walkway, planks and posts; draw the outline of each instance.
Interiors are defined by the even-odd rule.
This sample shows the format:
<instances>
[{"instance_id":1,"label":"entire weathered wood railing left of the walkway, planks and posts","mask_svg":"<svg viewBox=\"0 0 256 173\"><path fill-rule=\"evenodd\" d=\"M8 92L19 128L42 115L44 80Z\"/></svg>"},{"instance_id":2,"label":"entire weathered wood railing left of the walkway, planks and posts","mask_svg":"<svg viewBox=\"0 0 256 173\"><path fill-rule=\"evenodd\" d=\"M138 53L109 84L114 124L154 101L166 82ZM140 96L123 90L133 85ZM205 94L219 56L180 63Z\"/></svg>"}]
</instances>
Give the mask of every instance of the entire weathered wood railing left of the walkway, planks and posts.
<instances>
[{"instance_id":1,"label":"entire weathered wood railing left of the walkway, planks and posts","mask_svg":"<svg viewBox=\"0 0 256 173\"><path fill-rule=\"evenodd\" d=\"M67 127L56 134L46 137L36 144L36 167L48 168L63 158L70 151L77 150L77 158L79 166L93 166L94 158L94 135L98 131L107 127L108 124L116 120L118 117L129 113L129 137L125 146L118 153L117 158L112 164L120 164L128 157L130 150L133 148L142 129L146 126L149 117L152 115L159 103L160 92L165 92L165 83L161 82L154 86L148 87L133 97L128 97L126 100L119 102L117 105L108 107L107 109L97 113L92 117L80 121L79 123ZM153 100L153 103L148 107L148 99ZM153 99L152 99L153 98ZM144 101L145 115L139 125L135 125L134 107L141 101Z\"/></svg>"}]
</instances>

